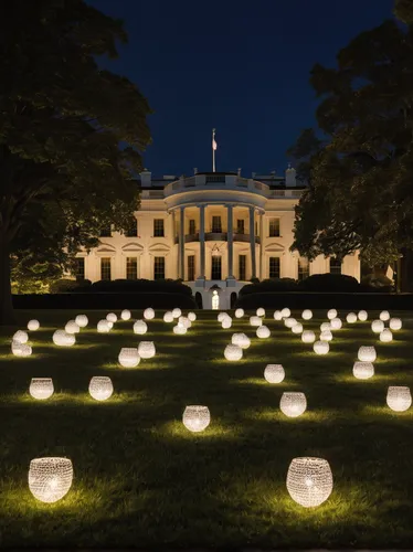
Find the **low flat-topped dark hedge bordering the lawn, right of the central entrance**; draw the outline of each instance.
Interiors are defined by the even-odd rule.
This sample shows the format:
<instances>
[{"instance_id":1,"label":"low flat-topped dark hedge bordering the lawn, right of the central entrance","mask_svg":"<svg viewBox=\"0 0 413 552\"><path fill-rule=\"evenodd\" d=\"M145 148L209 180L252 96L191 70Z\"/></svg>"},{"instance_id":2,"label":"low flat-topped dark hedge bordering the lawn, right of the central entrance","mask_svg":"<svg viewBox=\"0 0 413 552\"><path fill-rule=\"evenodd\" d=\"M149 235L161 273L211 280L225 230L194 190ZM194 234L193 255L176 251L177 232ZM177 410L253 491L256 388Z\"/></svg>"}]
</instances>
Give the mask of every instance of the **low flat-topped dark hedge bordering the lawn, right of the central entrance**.
<instances>
[{"instance_id":1,"label":"low flat-topped dark hedge bordering the lawn, right of the central entrance","mask_svg":"<svg viewBox=\"0 0 413 552\"><path fill-rule=\"evenodd\" d=\"M413 294L383 293L262 293L240 294L235 307L255 310L258 307L268 309L330 309L342 310L413 310Z\"/></svg>"}]
</instances>

